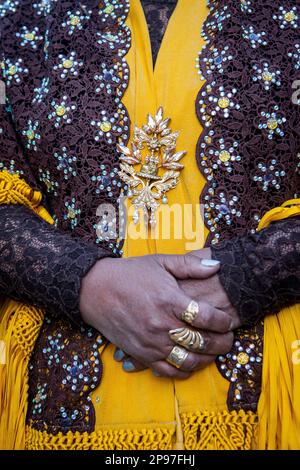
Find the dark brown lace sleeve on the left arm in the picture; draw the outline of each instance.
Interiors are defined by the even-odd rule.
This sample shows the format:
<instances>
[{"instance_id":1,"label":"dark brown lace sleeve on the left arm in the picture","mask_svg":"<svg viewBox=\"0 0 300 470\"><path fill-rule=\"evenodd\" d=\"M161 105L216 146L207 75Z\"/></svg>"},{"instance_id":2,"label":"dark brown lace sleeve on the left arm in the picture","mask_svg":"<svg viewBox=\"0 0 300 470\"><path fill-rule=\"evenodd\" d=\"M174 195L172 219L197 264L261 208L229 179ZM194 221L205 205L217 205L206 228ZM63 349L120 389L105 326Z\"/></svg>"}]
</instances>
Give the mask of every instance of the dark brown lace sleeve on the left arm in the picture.
<instances>
[{"instance_id":1,"label":"dark brown lace sleeve on the left arm in the picture","mask_svg":"<svg viewBox=\"0 0 300 470\"><path fill-rule=\"evenodd\" d=\"M60 233L24 206L0 206L0 297L80 322L81 279L106 250Z\"/></svg>"}]
</instances>

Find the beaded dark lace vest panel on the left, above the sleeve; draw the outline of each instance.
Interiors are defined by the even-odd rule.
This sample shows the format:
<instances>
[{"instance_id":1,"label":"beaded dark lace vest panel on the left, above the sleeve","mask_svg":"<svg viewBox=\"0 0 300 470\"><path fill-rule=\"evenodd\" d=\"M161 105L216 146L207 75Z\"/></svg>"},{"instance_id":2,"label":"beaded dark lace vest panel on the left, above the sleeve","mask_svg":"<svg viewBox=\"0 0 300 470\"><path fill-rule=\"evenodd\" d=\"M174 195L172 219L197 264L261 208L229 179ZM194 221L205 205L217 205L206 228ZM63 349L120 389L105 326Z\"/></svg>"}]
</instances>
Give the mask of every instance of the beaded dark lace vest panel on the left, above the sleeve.
<instances>
[{"instance_id":1,"label":"beaded dark lace vest panel on the left, above the sleeve","mask_svg":"<svg viewBox=\"0 0 300 470\"><path fill-rule=\"evenodd\" d=\"M0 150L12 140L1 152L0 169L23 172L41 189L61 230L116 254L122 252L119 215L105 204L118 205L116 144L126 145L130 130L122 104L128 11L129 0L23 0L0 22L7 91Z\"/></svg>"}]
</instances>

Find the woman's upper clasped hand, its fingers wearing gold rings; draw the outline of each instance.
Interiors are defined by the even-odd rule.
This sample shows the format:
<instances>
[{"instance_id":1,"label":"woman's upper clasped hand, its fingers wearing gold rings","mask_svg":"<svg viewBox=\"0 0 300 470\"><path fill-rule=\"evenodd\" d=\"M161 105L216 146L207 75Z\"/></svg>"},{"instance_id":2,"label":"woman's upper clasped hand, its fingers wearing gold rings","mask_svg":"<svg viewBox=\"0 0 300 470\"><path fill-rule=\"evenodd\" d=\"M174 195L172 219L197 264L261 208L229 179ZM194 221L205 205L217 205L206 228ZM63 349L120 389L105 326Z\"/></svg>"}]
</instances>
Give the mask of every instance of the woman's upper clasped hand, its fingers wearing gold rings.
<instances>
[{"instance_id":1,"label":"woman's upper clasped hand, its fingers wearing gold rings","mask_svg":"<svg viewBox=\"0 0 300 470\"><path fill-rule=\"evenodd\" d=\"M218 354L227 353L233 335L225 312L199 303L194 328L203 332L207 348L189 352L180 370L166 362L174 347L169 330L186 327L182 312L193 300L178 286L177 279L206 279L219 265L202 265L199 257L152 255L98 261L82 282L80 309L83 320L110 342L163 376L186 378L207 366ZM205 332L205 333L204 333Z\"/></svg>"}]
</instances>

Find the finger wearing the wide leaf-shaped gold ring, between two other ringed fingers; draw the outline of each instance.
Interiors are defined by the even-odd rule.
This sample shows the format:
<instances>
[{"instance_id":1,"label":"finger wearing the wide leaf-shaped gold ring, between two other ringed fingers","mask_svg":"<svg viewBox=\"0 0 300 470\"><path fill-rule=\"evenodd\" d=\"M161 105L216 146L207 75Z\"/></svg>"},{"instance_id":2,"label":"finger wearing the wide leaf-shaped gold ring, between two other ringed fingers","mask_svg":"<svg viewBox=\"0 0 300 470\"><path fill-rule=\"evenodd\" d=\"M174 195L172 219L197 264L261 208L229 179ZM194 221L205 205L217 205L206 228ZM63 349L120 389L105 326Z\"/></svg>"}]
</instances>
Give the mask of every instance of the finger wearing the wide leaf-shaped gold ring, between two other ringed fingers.
<instances>
[{"instance_id":1,"label":"finger wearing the wide leaf-shaped gold ring, between two other ringed fingers","mask_svg":"<svg viewBox=\"0 0 300 470\"><path fill-rule=\"evenodd\" d=\"M174 344L178 344L196 354L227 354L232 348L234 340L232 332L218 334L194 330L194 333L194 336L192 336L193 330L191 328L178 328L171 330L169 335ZM199 335L200 338L197 338L196 335ZM189 343L189 341L192 341L192 343ZM193 341L195 341L195 343L193 343ZM196 349L196 347L201 347L201 349Z\"/></svg>"}]
</instances>

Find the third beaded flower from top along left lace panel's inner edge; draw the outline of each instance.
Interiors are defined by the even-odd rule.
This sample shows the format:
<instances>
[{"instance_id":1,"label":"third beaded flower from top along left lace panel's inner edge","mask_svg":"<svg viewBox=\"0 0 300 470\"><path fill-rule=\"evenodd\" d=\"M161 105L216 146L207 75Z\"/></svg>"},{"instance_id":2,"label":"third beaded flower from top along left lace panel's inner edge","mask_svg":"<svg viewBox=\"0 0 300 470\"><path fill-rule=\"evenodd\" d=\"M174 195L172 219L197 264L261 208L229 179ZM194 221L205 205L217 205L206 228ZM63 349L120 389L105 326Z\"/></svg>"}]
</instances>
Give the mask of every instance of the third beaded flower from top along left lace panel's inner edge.
<instances>
[{"instance_id":1,"label":"third beaded flower from top along left lace panel's inner edge","mask_svg":"<svg viewBox=\"0 0 300 470\"><path fill-rule=\"evenodd\" d=\"M105 63L101 64L101 73L96 74L94 79L96 82L99 82L99 85L96 88L96 93L100 93L105 90L109 95L113 92L115 88L121 86L123 92L126 89L127 81L129 78L129 68L125 59L122 59L121 62L117 62L113 67L109 68ZM122 94L122 91L119 94Z\"/></svg>"}]
</instances>

